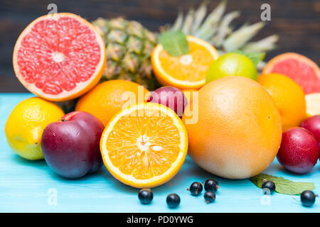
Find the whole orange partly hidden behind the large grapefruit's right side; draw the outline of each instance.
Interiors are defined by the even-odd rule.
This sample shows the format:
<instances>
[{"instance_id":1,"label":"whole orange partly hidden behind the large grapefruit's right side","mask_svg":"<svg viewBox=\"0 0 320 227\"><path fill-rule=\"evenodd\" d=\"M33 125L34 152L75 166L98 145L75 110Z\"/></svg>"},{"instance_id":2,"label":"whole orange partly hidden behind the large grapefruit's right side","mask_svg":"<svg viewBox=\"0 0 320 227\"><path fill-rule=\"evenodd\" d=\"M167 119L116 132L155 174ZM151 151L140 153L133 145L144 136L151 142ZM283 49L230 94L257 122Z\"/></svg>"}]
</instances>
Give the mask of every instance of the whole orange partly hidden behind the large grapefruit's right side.
<instances>
[{"instance_id":1,"label":"whole orange partly hidden behind the large grapefruit's right side","mask_svg":"<svg viewBox=\"0 0 320 227\"><path fill-rule=\"evenodd\" d=\"M262 74L258 82L272 96L282 120L282 130L299 126L306 118L306 100L302 87L279 73Z\"/></svg>"}]
</instances>

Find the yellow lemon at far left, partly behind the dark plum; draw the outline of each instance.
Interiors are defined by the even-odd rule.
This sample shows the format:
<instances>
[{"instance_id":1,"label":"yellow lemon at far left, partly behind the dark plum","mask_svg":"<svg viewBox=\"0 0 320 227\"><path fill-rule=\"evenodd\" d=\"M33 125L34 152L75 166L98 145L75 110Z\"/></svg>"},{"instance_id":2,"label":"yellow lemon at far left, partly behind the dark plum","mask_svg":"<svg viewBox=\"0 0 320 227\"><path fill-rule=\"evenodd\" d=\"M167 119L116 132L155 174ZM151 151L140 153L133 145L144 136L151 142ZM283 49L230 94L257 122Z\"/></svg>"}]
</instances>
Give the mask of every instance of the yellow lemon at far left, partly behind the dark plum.
<instances>
[{"instance_id":1,"label":"yellow lemon at far left, partly behind the dark plum","mask_svg":"<svg viewBox=\"0 0 320 227\"><path fill-rule=\"evenodd\" d=\"M27 160L43 159L43 129L64 115L59 106L38 97L21 101L6 121L6 140L21 157Z\"/></svg>"}]
</instances>

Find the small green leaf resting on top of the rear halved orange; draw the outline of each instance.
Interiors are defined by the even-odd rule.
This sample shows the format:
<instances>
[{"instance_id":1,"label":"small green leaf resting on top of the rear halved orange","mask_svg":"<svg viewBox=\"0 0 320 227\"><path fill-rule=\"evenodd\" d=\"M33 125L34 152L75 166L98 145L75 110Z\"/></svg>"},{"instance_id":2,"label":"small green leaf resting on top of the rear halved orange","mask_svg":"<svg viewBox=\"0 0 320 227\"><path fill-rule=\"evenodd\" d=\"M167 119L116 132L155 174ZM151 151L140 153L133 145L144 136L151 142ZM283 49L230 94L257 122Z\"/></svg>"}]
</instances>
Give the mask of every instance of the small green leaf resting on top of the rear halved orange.
<instances>
[{"instance_id":1,"label":"small green leaf resting on top of the rear halved orange","mask_svg":"<svg viewBox=\"0 0 320 227\"><path fill-rule=\"evenodd\" d=\"M167 31L159 36L159 43L173 57L189 53L188 40L182 31Z\"/></svg>"}]
</instances>

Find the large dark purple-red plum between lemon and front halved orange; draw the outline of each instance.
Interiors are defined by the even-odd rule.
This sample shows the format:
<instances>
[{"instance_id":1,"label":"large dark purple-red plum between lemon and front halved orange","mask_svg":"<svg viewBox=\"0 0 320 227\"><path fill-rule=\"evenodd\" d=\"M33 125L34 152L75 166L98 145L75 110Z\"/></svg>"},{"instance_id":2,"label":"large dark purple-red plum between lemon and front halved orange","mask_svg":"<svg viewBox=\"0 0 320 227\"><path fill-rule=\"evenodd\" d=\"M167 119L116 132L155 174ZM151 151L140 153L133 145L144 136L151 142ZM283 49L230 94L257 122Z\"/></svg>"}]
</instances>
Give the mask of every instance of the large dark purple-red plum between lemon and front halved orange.
<instances>
[{"instance_id":1,"label":"large dark purple-red plum between lemon and front halved orange","mask_svg":"<svg viewBox=\"0 0 320 227\"><path fill-rule=\"evenodd\" d=\"M100 138L105 127L92 114L74 111L43 131L41 148L53 172L78 178L102 166Z\"/></svg>"}]
</instances>

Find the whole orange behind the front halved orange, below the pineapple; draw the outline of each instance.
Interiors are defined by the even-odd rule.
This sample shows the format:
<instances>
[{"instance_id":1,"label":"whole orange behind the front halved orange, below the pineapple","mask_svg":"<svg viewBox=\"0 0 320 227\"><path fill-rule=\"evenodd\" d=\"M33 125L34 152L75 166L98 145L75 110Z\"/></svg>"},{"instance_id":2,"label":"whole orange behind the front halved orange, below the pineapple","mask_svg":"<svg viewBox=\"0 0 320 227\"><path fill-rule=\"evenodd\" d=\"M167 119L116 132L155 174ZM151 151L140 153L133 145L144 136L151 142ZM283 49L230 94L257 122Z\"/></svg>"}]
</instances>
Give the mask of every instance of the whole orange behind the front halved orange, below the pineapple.
<instances>
[{"instance_id":1,"label":"whole orange behind the front halved orange, below the pineapple","mask_svg":"<svg viewBox=\"0 0 320 227\"><path fill-rule=\"evenodd\" d=\"M117 112L146 101L147 93L149 91L137 83L124 79L109 80L82 96L75 110L95 115L106 126Z\"/></svg>"}]
</instances>

